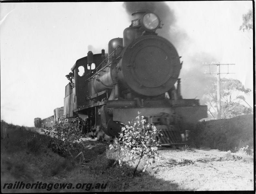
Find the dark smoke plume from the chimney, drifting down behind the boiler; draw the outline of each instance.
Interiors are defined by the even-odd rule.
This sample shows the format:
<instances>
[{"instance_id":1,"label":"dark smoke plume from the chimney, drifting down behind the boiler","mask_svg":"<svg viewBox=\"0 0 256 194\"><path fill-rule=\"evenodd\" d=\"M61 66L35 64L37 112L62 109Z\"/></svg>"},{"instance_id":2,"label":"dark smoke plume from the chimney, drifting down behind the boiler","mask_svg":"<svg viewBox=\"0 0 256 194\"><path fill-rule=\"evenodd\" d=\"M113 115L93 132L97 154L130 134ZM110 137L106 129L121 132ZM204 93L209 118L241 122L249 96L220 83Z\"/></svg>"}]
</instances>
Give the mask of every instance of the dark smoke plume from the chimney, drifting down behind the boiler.
<instances>
[{"instance_id":1,"label":"dark smoke plume from the chimney, drifting down behind the boiler","mask_svg":"<svg viewBox=\"0 0 256 194\"><path fill-rule=\"evenodd\" d=\"M184 98L202 98L203 88L208 82L208 77L204 74L203 62L211 63L217 61L209 53L200 53L200 48L189 51L188 45L193 45L193 41L186 32L179 27L174 10L165 2L125 2L123 4L130 19L131 14L139 9L148 9L156 13L163 22L163 28L158 29L157 33L168 39L177 49L180 56L183 56L183 67L180 78L182 81L181 92Z\"/></svg>"}]
</instances>

